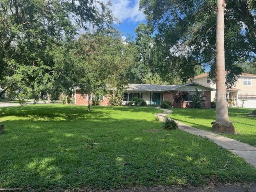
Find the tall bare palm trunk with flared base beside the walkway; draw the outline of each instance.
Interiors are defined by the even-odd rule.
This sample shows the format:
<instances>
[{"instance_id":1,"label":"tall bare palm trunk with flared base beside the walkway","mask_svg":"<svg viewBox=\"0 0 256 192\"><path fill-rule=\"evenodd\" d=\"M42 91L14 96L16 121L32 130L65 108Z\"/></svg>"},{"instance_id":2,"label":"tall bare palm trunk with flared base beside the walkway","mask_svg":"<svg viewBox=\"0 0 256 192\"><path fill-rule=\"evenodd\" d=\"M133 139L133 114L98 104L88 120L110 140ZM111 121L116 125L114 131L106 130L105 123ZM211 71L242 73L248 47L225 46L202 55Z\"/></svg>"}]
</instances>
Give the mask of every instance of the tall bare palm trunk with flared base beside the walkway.
<instances>
[{"instance_id":1,"label":"tall bare palm trunk with flared base beside the walkway","mask_svg":"<svg viewBox=\"0 0 256 192\"><path fill-rule=\"evenodd\" d=\"M225 84L225 0L217 0L217 24L216 24L216 122L212 122L212 131L234 133L235 129L228 117Z\"/></svg>"}]
</instances>

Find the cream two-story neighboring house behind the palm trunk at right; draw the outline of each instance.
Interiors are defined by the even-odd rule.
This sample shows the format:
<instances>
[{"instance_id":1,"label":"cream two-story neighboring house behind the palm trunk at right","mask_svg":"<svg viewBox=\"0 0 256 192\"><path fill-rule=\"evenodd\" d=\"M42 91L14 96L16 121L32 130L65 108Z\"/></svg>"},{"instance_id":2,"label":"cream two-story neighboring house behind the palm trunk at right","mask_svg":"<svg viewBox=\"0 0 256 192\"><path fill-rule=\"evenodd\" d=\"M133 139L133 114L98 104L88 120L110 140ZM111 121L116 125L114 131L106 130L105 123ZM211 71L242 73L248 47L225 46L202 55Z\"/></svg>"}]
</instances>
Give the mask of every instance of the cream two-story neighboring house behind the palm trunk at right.
<instances>
[{"instance_id":1,"label":"cream two-story neighboring house behind the palm trunk at right","mask_svg":"<svg viewBox=\"0 0 256 192\"><path fill-rule=\"evenodd\" d=\"M216 89L216 83L210 80L208 73L200 74L189 80ZM216 97L212 91L211 100ZM256 108L256 74L242 73L236 84L227 90L227 99L230 106Z\"/></svg>"}]
</instances>

